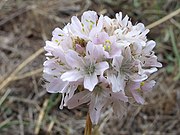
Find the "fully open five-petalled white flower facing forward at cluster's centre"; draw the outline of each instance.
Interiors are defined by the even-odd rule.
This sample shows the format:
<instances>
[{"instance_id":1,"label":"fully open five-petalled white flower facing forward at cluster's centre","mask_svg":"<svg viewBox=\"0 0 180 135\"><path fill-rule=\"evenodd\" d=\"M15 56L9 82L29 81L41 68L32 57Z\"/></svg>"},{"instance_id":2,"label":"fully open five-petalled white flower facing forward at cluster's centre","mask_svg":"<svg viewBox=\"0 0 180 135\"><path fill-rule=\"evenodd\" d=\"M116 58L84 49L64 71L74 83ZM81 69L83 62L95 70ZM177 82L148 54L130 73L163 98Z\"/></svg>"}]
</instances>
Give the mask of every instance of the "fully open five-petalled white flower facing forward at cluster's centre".
<instances>
[{"instance_id":1,"label":"fully open five-petalled white flower facing forward at cluster's centre","mask_svg":"<svg viewBox=\"0 0 180 135\"><path fill-rule=\"evenodd\" d=\"M66 61L72 69L63 73L61 79L69 82L83 79L84 88L92 91L98 83L98 75L103 74L109 65L105 61L97 63L96 55L101 52L98 52L95 46L88 44L86 49L85 58L78 56L78 53L72 50L66 54Z\"/></svg>"}]
</instances>

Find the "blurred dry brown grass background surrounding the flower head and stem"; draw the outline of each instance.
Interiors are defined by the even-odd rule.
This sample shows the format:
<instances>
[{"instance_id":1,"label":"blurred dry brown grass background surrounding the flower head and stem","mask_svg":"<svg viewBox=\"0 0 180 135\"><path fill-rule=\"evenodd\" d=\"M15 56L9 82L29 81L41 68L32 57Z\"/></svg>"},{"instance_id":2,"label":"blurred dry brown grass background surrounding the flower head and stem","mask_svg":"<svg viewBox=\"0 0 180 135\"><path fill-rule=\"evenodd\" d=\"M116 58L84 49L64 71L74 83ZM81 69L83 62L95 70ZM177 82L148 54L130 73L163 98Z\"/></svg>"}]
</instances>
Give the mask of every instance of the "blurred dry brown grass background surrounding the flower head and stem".
<instances>
[{"instance_id":1,"label":"blurred dry brown grass background surrounding the flower head and stem","mask_svg":"<svg viewBox=\"0 0 180 135\"><path fill-rule=\"evenodd\" d=\"M157 84L146 104L129 106L121 120L107 109L93 135L179 135L179 8L179 0L1 0L0 135L83 135L86 105L60 110L61 95L43 88L42 47L54 28L89 9L112 18L122 11L144 23L163 64L151 76Z\"/></svg>"}]
</instances>

